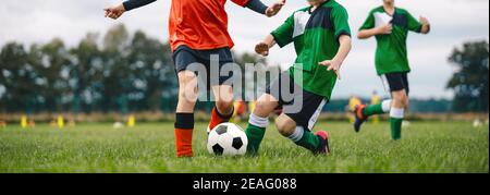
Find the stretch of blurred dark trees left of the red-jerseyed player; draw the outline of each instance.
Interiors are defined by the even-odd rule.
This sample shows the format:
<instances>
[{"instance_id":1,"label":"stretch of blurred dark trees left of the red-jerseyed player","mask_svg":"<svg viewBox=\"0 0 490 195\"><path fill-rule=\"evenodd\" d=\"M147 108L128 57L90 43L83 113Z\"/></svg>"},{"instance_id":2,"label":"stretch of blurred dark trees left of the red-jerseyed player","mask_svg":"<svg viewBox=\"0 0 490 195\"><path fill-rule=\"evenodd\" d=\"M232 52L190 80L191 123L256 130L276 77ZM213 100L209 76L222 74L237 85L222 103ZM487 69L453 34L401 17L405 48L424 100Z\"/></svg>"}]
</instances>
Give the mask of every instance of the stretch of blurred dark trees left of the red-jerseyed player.
<instances>
[{"instance_id":1,"label":"stretch of blurred dark trees left of the red-jerseyed player","mask_svg":"<svg viewBox=\"0 0 490 195\"><path fill-rule=\"evenodd\" d=\"M7 44L0 52L1 111L166 109L161 98L175 97L177 85L169 48L140 31L130 35L124 25L101 40L89 33L72 48L58 38L28 48Z\"/></svg>"}]
</instances>

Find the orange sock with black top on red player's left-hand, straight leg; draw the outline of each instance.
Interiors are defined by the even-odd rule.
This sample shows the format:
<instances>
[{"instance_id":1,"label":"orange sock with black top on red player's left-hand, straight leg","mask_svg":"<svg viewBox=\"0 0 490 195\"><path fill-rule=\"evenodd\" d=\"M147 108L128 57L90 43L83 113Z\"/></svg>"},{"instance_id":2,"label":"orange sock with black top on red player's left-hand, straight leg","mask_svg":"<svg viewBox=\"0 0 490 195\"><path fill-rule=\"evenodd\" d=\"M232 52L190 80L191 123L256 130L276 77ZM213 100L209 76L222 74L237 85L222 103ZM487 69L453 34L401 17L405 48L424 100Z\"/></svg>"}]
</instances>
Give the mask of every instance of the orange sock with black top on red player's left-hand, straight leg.
<instances>
[{"instance_id":1,"label":"orange sock with black top on red player's left-hand, straight leg","mask_svg":"<svg viewBox=\"0 0 490 195\"><path fill-rule=\"evenodd\" d=\"M176 157L193 157L194 113L175 114Z\"/></svg>"}]
</instances>

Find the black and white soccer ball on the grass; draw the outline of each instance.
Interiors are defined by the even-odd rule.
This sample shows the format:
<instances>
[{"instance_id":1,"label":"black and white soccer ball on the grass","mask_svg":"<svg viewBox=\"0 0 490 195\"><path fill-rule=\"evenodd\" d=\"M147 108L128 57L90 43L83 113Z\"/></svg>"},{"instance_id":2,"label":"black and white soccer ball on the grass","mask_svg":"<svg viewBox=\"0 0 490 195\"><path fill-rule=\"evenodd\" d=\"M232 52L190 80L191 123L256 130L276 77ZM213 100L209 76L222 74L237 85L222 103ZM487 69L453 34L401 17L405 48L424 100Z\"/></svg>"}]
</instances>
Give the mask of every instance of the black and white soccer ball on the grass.
<instances>
[{"instance_id":1,"label":"black and white soccer ball on the grass","mask_svg":"<svg viewBox=\"0 0 490 195\"><path fill-rule=\"evenodd\" d=\"M236 124L222 123L208 136L208 151L217 156L243 156L247 150L248 139L245 132Z\"/></svg>"}]
</instances>

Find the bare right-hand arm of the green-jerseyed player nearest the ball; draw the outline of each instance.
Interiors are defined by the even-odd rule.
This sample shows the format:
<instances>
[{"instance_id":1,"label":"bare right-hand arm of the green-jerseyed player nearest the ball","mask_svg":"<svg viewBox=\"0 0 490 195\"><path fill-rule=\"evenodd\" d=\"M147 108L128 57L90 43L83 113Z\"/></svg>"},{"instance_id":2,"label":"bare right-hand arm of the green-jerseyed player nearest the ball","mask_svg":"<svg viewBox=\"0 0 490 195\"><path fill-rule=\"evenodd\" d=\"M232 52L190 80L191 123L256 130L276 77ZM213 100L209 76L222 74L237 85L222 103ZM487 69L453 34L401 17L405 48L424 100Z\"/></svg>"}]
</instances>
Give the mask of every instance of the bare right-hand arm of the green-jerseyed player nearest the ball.
<instances>
[{"instance_id":1,"label":"bare right-hand arm of the green-jerseyed player nearest the ball","mask_svg":"<svg viewBox=\"0 0 490 195\"><path fill-rule=\"evenodd\" d=\"M340 42L340 47L339 47L339 51L336 52L335 57L333 57L332 60L326 60L326 61L319 62L318 64L327 66L328 71L335 72L339 80L341 80L342 77L340 74L340 69L352 49L351 36L348 36L348 35L340 36L339 42Z\"/></svg>"}]
</instances>

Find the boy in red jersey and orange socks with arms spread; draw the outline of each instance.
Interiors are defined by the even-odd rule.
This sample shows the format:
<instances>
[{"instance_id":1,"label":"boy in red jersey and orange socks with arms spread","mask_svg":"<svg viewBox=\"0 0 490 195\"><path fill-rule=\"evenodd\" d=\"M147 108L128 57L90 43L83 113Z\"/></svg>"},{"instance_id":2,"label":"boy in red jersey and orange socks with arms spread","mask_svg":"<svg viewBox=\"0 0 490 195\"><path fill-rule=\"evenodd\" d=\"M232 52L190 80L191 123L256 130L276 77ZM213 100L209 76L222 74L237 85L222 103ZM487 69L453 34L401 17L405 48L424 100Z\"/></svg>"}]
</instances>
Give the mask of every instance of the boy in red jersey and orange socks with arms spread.
<instances>
[{"instance_id":1,"label":"boy in red jersey and orange socks with arms spread","mask_svg":"<svg viewBox=\"0 0 490 195\"><path fill-rule=\"evenodd\" d=\"M105 9L106 17L119 19L124 12L149 4L156 0L127 0L122 4ZM266 7L260 0L231 0L267 16L275 15L284 5L279 0ZM234 46L228 33L228 15L224 10L226 0L172 0L169 33L175 71L179 77L179 103L175 112L175 146L177 157L192 157L194 130L194 108L197 102L197 74L189 66L195 63L205 65L210 74L215 70L233 62L230 49ZM219 57L213 61L211 56ZM219 75L219 74L218 74ZM211 112L208 130L228 122L233 114L233 87L226 84L232 75L219 76L218 83L211 83L216 97L216 107ZM209 76L207 76L209 80Z\"/></svg>"}]
</instances>

